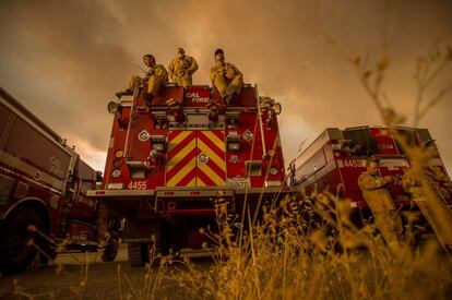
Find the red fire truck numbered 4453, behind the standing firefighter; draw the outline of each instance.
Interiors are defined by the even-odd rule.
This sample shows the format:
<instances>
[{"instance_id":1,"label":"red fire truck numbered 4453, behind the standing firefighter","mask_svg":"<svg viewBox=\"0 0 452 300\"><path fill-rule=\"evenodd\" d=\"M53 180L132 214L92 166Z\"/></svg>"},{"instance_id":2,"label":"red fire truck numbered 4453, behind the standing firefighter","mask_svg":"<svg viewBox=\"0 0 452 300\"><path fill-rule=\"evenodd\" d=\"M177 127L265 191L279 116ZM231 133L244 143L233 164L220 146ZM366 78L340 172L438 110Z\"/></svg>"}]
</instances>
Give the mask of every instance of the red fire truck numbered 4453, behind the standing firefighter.
<instances>
[{"instance_id":1,"label":"red fire truck numbered 4453, behind the standing firefighter","mask_svg":"<svg viewBox=\"0 0 452 300\"><path fill-rule=\"evenodd\" d=\"M396 130L411 145L436 151L437 155L430 159L429 167L439 172L436 190L451 205L450 178L429 131L402 127ZM379 159L381 176L394 178L390 190L395 205L401 209L418 211L402 189L402 177L408 168L407 158L388 128L383 127L326 129L289 164L290 184L294 191L305 190L309 194L317 189L319 192L338 193L342 199L350 200L352 218L356 225L362 225L370 212L359 190L358 176L366 170L366 159L369 157Z\"/></svg>"}]
</instances>

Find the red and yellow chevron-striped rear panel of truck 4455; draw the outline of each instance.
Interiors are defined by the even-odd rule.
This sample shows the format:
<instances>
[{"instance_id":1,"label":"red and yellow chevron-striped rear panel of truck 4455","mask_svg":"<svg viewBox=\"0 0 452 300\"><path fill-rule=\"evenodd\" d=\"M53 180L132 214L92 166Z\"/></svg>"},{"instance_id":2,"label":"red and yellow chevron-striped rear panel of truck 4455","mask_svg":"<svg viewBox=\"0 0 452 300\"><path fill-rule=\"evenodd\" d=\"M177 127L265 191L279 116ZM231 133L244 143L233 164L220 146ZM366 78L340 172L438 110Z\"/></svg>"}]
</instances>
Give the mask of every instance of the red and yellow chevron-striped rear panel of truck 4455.
<instances>
[{"instance_id":1,"label":"red and yellow chevron-striped rear panel of truck 4455","mask_svg":"<svg viewBox=\"0 0 452 300\"><path fill-rule=\"evenodd\" d=\"M169 131L166 185L226 185L224 131Z\"/></svg>"}]
</instances>

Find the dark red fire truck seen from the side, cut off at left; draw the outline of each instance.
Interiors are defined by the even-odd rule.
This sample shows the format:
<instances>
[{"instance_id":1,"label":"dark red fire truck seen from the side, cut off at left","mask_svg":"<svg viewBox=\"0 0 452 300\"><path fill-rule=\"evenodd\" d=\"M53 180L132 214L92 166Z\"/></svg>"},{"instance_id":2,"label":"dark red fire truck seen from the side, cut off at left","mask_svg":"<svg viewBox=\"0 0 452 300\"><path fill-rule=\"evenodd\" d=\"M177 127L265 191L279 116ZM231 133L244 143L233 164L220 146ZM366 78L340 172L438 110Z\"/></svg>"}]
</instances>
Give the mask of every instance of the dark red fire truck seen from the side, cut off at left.
<instances>
[{"instance_id":1,"label":"dark red fire truck seen from the side, cut off at left","mask_svg":"<svg viewBox=\"0 0 452 300\"><path fill-rule=\"evenodd\" d=\"M96 250L97 203L86 191L100 173L2 88L0 96L0 272L25 269L37 248L50 256ZM103 260L116 251L109 243Z\"/></svg>"}]
</instances>

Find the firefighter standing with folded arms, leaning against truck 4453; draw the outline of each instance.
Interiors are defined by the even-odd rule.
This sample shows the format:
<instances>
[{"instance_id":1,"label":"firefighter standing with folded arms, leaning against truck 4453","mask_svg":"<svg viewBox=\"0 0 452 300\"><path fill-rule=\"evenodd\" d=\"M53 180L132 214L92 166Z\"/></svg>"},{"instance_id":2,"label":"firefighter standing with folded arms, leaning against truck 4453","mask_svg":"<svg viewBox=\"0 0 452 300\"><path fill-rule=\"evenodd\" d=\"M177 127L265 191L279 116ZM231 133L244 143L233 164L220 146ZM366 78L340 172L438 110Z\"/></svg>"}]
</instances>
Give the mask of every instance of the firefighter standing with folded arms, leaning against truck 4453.
<instances>
[{"instance_id":1,"label":"firefighter standing with folded arms, leaning against truck 4453","mask_svg":"<svg viewBox=\"0 0 452 300\"><path fill-rule=\"evenodd\" d=\"M378 161L370 158L366 160L366 171L358 177L359 189L372 212L377 228L386 244L395 250L402 242L403 226L388 190L388 184L392 181L391 176L378 175Z\"/></svg>"}]
</instances>

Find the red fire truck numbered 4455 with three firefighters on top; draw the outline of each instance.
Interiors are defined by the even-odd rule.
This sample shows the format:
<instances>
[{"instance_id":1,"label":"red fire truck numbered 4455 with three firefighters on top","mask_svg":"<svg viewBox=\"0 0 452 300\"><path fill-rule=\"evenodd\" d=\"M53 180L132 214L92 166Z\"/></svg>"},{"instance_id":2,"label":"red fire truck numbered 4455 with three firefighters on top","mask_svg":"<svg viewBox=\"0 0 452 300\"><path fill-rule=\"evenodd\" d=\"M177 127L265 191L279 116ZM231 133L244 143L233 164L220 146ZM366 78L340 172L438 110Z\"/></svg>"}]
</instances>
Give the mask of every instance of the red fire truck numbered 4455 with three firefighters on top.
<instances>
[{"instance_id":1,"label":"red fire truck numbered 4455 with three firefighters on top","mask_svg":"<svg viewBox=\"0 0 452 300\"><path fill-rule=\"evenodd\" d=\"M114 115L103 189L88 195L126 218L131 265L160 253L200 249L218 202L240 219L287 192L276 116L281 105L245 85L225 106L210 86L166 85L152 105L122 96Z\"/></svg>"}]
</instances>

